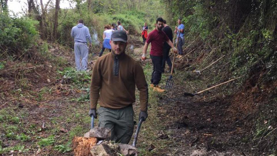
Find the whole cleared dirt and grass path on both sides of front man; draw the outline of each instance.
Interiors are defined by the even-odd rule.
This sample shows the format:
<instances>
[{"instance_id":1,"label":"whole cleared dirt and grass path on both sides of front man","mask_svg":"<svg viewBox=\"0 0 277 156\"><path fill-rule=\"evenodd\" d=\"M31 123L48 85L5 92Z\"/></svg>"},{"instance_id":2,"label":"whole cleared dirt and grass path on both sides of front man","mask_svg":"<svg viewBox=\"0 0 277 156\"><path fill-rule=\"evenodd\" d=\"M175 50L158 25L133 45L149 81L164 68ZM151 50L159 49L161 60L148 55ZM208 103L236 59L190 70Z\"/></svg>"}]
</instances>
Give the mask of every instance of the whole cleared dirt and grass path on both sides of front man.
<instances>
[{"instance_id":1,"label":"whole cleared dirt and grass path on both sides of front man","mask_svg":"<svg viewBox=\"0 0 277 156\"><path fill-rule=\"evenodd\" d=\"M143 45L135 47L132 57L139 60L142 50ZM73 55L68 56L70 67L37 70L46 76L37 79L37 84L30 89L16 88L1 94L1 98L14 95L19 100L8 102L1 108L3 139L0 155L73 155L72 138L82 136L90 124L87 115L90 75L89 72L76 73L73 58ZM97 55L91 55L89 62L97 58ZM149 82L151 60L141 63ZM52 75L56 70L61 73ZM203 102L201 99L205 94L183 97L188 86L182 82L184 75L176 71L172 90L157 94L149 89L149 117L141 127L137 142L140 155L227 156L241 155L242 152L249 155L250 147L241 131L245 128L244 120L231 116L230 104L220 98ZM168 76L169 73L162 75L162 85ZM45 77L51 83L47 83ZM133 107L137 121L138 92L136 99Z\"/></svg>"}]
</instances>

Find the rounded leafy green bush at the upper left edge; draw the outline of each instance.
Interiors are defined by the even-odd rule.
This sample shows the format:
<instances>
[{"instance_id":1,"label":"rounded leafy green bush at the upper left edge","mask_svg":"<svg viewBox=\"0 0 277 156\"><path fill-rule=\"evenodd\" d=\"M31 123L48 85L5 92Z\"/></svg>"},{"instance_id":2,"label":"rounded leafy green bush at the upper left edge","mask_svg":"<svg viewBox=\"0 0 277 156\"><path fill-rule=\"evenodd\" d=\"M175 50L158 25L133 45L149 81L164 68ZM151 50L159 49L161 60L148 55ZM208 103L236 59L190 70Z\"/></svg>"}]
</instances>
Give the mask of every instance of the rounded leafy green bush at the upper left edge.
<instances>
[{"instance_id":1,"label":"rounded leafy green bush at the upper left edge","mask_svg":"<svg viewBox=\"0 0 277 156\"><path fill-rule=\"evenodd\" d=\"M38 38L37 21L29 18L13 18L0 13L0 50L9 53L27 50Z\"/></svg>"}]
</instances>

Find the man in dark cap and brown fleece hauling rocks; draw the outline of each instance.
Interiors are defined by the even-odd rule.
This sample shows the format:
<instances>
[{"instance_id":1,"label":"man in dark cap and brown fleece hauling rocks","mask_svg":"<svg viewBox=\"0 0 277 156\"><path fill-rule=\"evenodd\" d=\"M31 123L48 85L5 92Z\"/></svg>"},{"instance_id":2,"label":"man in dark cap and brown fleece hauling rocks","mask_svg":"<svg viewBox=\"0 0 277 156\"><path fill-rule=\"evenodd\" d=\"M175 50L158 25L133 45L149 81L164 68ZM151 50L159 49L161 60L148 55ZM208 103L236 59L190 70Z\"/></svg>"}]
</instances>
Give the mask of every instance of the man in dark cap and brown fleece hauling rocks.
<instances>
[{"instance_id":1,"label":"man in dark cap and brown fleece hauling rocks","mask_svg":"<svg viewBox=\"0 0 277 156\"><path fill-rule=\"evenodd\" d=\"M139 119L145 120L148 85L139 62L125 54L126 32L114 31L110 43L112 52L99 57L93 66L89 115L97 118L96 105L100 96L99 127L111 129L111 140L128 144L134 130L135 88L140 91Z\"/></svg>"}]
</instances>

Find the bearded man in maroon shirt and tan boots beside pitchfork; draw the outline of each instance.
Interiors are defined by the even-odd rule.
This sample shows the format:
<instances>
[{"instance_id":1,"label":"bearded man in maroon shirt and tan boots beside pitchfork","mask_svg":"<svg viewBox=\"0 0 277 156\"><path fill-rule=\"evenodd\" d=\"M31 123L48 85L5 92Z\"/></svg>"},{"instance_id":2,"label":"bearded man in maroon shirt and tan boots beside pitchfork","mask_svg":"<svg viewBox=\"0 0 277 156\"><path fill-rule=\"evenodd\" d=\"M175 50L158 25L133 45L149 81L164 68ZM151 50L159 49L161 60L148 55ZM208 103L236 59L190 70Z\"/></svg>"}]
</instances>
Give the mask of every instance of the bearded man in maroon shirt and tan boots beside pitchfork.
<instances>
[{"instance_id":1,"label":"bearded man in maroon shirt and tan boots beside pitchfork","mask_svg":"<svg viewBox=\"0 0 277 156\"><path fill-rule=\"evenodd\" d=\"M164 92L164 89L161 89L158 84L162 78L162 55L163 55L163 44L166 42L171 48L173 48L174 53L177 53L177 49L174 47L173 43L166 34L162 31L163 19L161 17L156 20L156 29L151 31L147 36L143 48L142 60L146 59L146 51L148 45L151 43L150 57L153 63L153 72L150 87L153 87L154 91Z\"/></svg>"}]
</instances>

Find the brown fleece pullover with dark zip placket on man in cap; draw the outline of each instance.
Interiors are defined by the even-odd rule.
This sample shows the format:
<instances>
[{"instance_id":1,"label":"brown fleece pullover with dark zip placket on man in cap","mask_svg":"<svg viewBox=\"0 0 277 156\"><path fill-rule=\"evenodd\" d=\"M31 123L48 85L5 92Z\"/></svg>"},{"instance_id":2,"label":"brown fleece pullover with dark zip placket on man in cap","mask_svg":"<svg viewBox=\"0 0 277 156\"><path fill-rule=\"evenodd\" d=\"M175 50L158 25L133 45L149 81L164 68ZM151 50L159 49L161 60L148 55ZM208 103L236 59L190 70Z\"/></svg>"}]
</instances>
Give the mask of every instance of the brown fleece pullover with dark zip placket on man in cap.
<instances>
[{"instance_id":1,"label":"brown fleece pullover with dark zip placket on man in cap","mask_svg":"<svg viewBox=\"0 0 277 156\"><path fill-rule=\"evenodd\" d=\"M118 59L117 59L118 58ZM147 111L148 86L139 62L129 55L113 52L99 57L92 70L90 86L90 108L99 105L119 109L135 102L135 87L140 91L141 111Z\"/></svg>"}]
</instances>

